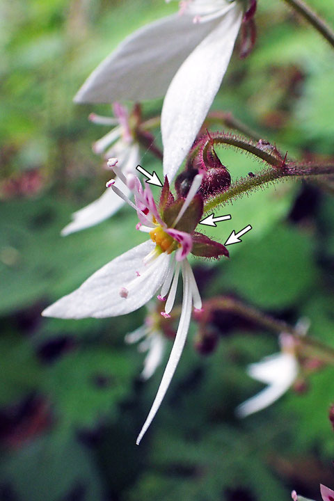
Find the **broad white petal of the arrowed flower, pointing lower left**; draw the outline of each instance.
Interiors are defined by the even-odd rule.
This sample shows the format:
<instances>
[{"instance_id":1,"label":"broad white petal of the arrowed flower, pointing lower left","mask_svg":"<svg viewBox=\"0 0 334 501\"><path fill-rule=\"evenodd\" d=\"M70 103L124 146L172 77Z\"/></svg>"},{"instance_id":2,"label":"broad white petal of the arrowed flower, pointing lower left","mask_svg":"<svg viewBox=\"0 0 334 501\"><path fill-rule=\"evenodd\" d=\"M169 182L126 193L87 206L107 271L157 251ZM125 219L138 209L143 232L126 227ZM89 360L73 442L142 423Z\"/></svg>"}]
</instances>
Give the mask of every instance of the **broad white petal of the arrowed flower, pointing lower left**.
<instances>
[{"instance_id":1,"label":"broad white petal of the arrowed flower, pointing lower left","mask_svg":"<svg viewBox=\"0 0 334 501\"><path fill-rule=\"evenodd\" d=\"M151 240L128 250L94 273L79 289L49 306L42 315L57 318L104 318L125 315L147 303L164 282L170 256L159 255L150 264L150 275L136 278L136 271L143 269L143 259L155 247ZM120 296L120 289L129 287L127 298Z\"/></svg>"}]
</instances>

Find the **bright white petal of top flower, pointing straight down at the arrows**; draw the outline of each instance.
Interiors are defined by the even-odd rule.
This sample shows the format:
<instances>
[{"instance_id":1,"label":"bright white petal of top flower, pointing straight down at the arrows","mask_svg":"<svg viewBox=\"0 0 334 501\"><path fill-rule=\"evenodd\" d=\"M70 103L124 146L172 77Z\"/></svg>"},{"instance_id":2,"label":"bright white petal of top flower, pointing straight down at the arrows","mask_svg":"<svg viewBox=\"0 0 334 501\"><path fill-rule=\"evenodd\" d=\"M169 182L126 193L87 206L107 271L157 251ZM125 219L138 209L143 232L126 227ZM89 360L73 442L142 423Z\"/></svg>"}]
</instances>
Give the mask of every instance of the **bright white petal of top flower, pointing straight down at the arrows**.
<instances>
[{"instance_id":1,"label":"bright white petal of top flower, pointing straight down at the arrows","mask_svg":"<svg viewBox=\"0 0 334 501\"><path fill-rule=\"evenodd\" d=\"M202 126L228 68L242 19L239 2L190 54L171 82L161 113L164 175L172 180ZM200 26L205 26L206 23Z\"/></svg>"}]
</instances>

